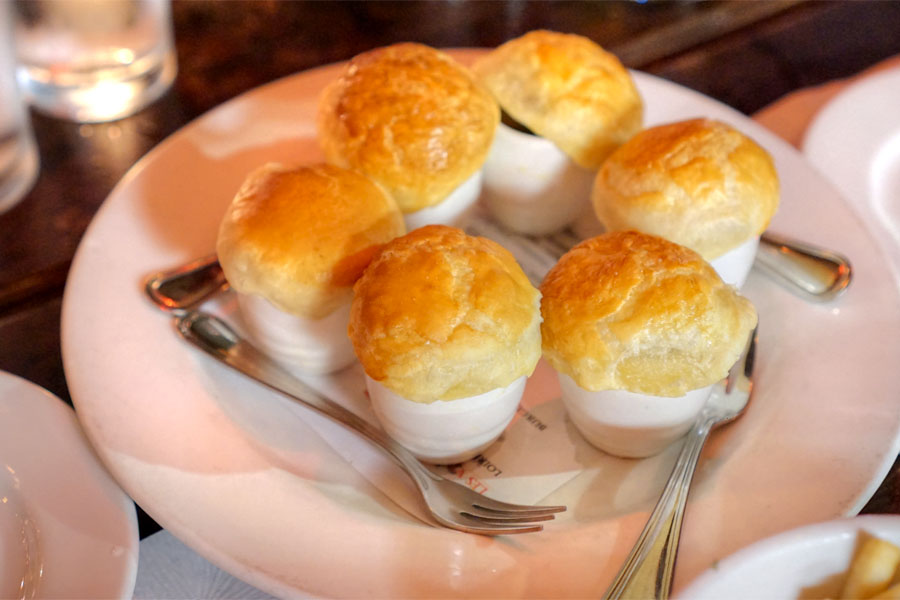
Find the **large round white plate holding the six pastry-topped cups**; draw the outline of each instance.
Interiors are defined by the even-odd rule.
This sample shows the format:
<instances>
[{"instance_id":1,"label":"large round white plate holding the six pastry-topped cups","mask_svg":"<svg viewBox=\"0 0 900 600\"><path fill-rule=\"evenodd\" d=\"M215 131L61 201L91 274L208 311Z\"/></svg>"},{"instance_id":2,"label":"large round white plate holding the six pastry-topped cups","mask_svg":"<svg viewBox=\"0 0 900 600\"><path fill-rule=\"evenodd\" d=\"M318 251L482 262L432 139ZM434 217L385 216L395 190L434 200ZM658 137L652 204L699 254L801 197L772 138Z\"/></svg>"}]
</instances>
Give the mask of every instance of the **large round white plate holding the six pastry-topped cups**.
<instances>
[{"instance_id":1,"label":"large round white plate holding the six pastry-topped cups","mask_svg":"<svg viewBox=\"0 0 900 600\"><path fill-rule=\"evenodd\" d=\"M540 534L489 539L426 527L338 458L310 426L322 431L321 419L186 346L144 299L146 275L212 251L245 173L320 156L317 96L337 72L302 73L216 108L140 161L104 203L78 250L63 312L66 375L88 435L165 528L275 595L602 593L671 453L610 458L576 477L548 499L569 511ZM742 546L852 514L871 496L900 450L900 299L869 235L796 151L696 92L636 78L648 123L716 117L768 148L784 192L773 230L844 252L856 267L850 290L829 305L751 273L744 289L761 314L757 394L706 449L677 588Z\"/></svg>"}]
</instances>

